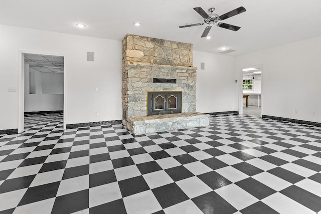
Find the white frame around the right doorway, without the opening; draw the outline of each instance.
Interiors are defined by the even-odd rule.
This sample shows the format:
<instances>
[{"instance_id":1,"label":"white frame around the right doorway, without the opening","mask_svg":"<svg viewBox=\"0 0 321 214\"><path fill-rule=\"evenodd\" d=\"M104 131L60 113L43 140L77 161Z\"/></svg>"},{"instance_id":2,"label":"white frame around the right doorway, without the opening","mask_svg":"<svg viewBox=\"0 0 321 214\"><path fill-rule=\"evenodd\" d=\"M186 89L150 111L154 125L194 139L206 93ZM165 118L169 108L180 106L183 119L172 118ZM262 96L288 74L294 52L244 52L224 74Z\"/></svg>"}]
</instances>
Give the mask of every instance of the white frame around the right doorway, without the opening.
<instances>
[{"instance_id":1,"label":"white frame around the right doorway, without the opening","mask_svg":"<svg viewBox=\"0 0 321 214\"><path fill-rule=\"evenodd\" d=\"M263 112L263 98L262 98L262 89L263 89L263 65L252 65L252 66L244 66L239 68L239 85L238 85L238 97L239 97L239 102L238 102L238 109L239 109L239 114L243 114L243 69L245 68L257 68L260 67L261 69L261 112L260 112L260 117L262 117L262 112Z\"/></svg>"}]
</instances>

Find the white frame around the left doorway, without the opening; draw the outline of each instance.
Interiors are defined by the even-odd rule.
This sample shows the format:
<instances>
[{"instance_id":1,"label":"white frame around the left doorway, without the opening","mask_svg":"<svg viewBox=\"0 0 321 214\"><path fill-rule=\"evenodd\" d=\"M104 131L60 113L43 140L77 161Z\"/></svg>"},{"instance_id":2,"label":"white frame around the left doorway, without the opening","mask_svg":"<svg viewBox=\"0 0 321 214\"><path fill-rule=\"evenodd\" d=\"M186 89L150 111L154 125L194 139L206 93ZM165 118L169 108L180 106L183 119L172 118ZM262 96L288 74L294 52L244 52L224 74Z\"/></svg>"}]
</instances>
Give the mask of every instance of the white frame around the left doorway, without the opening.
<instances>
[{"instance_id":1,"label":"white frame around the left doorway, without the opening","mask_svg":"<svg viewBox=\"0 0 321 214\"><path fill-rule=\"evenodd\" d=\"M67 57L66 54L62 53L50 53L50 52L36 52L36 51L26 51L19 50L19 71L18 71L18 133L24 131L24 116L25 116L25 54L36 54L36 55L48 55L48 56L58 56L64 57L64 88L63 88L63 97L64 97L64 107L63 107L63 127L66 129L66 92L67 92Z\"/></svg>"}]
</instances>

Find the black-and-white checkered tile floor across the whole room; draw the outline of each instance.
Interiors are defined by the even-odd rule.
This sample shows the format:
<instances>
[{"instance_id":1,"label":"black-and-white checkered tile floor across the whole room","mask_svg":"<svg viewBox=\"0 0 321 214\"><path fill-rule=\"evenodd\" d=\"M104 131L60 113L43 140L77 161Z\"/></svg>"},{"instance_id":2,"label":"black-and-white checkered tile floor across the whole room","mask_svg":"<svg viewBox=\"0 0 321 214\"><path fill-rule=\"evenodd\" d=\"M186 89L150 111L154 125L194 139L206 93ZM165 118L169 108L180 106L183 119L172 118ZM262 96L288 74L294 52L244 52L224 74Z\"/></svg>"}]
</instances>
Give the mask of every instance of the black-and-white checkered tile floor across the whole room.
<instances>
[{"instance_id":1,"label":"black-and-white checkered tile floor across the whole room","mask_svg":"<svg viewBox=\"0 0 321 214\"><path fill-rule=\"evenodd\" d=\"M62 114L0 136L0 213L316 213L321 128L255 116L133 137L63 131Z\"/></svg>"}]
</instances>

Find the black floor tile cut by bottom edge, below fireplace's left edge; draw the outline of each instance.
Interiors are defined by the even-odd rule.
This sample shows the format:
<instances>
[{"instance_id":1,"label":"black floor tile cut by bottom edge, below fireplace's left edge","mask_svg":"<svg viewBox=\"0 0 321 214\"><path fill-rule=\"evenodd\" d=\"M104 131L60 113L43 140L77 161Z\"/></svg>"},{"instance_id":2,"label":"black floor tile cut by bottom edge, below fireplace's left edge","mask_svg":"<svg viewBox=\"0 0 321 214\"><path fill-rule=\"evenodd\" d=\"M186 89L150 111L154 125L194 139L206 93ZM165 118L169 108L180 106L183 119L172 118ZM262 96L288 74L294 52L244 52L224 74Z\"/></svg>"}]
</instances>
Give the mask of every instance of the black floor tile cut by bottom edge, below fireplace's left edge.
<instances>
[{"instance_id":1,"label":"black floor tile cut by bottom edge, below fireplace's left edge","mask_svg":"<svg viewBox=\"0 0 321 214\"><path fill-rule=\"evenodd\" d=\"M127 214L124 201L122 199L114 200L98 206L89 208L90 214Z\"/></svg>"}]
</instances>

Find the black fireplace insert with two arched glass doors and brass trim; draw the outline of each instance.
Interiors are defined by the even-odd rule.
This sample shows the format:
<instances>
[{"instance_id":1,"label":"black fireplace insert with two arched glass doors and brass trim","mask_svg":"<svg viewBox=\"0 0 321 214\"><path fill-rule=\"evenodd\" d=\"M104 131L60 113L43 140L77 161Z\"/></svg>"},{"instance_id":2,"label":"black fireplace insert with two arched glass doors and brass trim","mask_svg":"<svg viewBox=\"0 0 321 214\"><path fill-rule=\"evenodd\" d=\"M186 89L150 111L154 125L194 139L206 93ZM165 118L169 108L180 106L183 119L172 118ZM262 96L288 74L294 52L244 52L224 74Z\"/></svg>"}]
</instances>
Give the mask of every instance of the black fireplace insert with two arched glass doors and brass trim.
<instances>
[{"instance_id":1,"label":"black fireplace insert with two arched glass doors and brass trim","mask_svg":"<svg viewBox=\"0 0 321 214\"><path fill-rule=\"evenodd\" d=\"M182 91L148 91L147 115L182 112Z\"/></svg>"}]
</instances>

